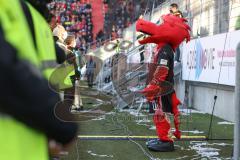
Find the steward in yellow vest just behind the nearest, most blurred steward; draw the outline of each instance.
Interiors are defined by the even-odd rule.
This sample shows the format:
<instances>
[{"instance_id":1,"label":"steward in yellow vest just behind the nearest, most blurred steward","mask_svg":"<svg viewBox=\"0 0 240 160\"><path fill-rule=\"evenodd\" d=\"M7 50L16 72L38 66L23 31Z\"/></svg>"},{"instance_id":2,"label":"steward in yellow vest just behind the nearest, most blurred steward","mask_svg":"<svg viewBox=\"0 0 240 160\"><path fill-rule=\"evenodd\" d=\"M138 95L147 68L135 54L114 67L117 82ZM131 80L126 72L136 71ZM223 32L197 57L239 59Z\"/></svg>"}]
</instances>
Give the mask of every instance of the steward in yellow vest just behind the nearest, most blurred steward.
<instances>
[{"instance_id":1,"label":"steward in yellow vest just behind the nearest, most blurred steward","mask_svg":"<svg viewBox=\"0 0 240 160\"><path fill-rule=\"evenodd\" d=\"M37 57L41 61L41 71L49 81L51 87L54 87L54 90L58 90L61 86L60 84L63 83L62 79L64 77L62 74L53 75L53 72L59 70L59 64L65 61L66 55L64 50L55 44L52 31L43 15L30 3L27 3L27 5L23 4L23 7L34 39Z\"/></svg>"}]
</instances>

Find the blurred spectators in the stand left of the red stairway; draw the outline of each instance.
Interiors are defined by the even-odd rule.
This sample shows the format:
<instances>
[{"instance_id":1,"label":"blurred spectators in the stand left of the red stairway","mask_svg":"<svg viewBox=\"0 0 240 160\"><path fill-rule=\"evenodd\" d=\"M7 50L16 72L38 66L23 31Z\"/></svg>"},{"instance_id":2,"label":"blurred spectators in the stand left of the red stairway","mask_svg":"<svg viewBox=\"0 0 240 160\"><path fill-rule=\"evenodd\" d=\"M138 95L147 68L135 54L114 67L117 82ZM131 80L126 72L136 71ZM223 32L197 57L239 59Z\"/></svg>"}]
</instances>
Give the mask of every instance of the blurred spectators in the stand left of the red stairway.
<instances>
[{"instance_id":1,"label":"blurred spectators in the stand left of the red stairway","mask_svg":"<svg viewBox=\"0 0 240 160\"><path fill-rule=\"evenodd\" d=\"M51 26L62 25L76 37L77 47L86 52L93 42L92 6L89 0L58 0L48 4Z\"/></svg>"}]
</instances>

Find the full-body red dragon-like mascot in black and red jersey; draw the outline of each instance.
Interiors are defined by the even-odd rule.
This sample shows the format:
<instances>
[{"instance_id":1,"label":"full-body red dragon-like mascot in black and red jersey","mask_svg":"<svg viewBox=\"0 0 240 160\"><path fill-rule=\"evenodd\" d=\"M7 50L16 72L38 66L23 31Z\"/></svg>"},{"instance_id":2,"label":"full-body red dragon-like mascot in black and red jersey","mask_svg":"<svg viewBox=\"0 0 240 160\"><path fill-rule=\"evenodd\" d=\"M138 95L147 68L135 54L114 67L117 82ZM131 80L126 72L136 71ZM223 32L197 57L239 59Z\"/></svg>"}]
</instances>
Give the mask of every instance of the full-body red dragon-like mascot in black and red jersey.
<instances>
[{"instance_id":1,"label":"full-body red dragon-like mascot in black and red jersey","mask_svg":"<svg viewBox=\"0 0 240 160\"><path fill-rule=\"evenodd\" d=\"M136 23L136 30L144 36L139 40L140 44L155 43L157 44L152 66L149 67L150 81L147 87L140 91L144 94L149 102L157 104L153 120L156 125L158 140L147 142L147 147L153 151L173 151L173 140L169 137L170 122L166 112L174 115L175 132L173 135L180 139L179 130L179 110L178 105L181 103L177 98L175 91L166 95L161 95L163 82L168 82L173 86L173 68L174 68L174 51L186 39L190 40L190 27L186 24L187 20L168 14L162 16L163 23L156 25L152 22L139 19Z\"/></svg>"}]
</instances>

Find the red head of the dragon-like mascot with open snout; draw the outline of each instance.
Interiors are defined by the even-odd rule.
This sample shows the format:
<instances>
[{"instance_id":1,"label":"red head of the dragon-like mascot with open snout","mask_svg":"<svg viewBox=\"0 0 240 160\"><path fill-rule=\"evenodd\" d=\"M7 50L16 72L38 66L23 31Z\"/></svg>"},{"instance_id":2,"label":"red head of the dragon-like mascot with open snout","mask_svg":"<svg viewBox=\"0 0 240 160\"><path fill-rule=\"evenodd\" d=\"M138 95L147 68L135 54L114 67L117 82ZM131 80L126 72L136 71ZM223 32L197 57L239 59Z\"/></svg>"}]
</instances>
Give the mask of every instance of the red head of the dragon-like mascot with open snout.
<instances>
[{"instance_id":1,"label":"red head of the dragon-like mascot with open snout","mask_svg":"<svg viewBox=\"0 0 240 160\"><path fill-rule=\"evenodd\" d=\"M190 27L186 19L171 14L162 16L162 19L161 25L143 19L137 21L136 30L146 35L143 40L139 40L140 44L169 44L175 50L185 39L190 41Z\"/></svg>"}]
</instances>

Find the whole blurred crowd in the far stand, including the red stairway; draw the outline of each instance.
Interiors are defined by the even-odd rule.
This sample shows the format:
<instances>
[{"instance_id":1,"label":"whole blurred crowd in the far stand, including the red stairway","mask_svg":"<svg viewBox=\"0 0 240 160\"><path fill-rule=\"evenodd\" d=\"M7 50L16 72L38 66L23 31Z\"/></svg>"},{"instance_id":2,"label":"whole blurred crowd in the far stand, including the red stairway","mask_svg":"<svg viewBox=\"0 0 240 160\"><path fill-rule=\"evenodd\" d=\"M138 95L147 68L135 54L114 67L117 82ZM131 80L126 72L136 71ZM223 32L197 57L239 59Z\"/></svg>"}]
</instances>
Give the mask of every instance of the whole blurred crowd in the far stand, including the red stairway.
<instances>
[{"instance_id":1,"label":"whole blurred crowd in the far stand, including the red stairway","mask_svg":"<svg viewBox=\"0 0 240 160\"><path fill-rule=\"evenodd\" d=\"M157 1L156 6L164 1ZM49 21L52 29L60 24L74 35L77 48L86 53L105 41L122 37L123 29L149 10L152 3L146 0L54 0L48 4L52 14Z\"/></svg>"}]
</instances>

